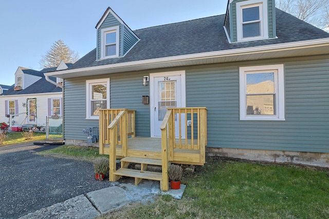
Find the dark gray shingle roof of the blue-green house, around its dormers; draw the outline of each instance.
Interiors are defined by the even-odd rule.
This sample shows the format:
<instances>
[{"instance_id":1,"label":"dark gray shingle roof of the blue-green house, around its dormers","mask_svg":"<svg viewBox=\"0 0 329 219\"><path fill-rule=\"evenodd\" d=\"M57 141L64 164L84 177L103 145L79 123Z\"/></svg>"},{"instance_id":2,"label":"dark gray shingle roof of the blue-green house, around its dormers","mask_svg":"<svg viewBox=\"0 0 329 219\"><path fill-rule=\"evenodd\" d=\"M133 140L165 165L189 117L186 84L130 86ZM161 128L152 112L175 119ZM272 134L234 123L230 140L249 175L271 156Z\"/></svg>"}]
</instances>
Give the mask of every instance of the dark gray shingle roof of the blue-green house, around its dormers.
<instances>
[{"instance_id":1,"label":"dark gray shingle roof of the blue-green house, around its dormers","mask_svg":"<svg viewBox=\"0 0 329 219\"><path fill-rule=\"evenodd\" d=\"M329 37L329 33L305 23L293 15L276 9L278 38L230 44L223 28L224 19L225 14L222 14L194 19L192 21L135 30L135 34L141 40L124 57L96 61L96 49L94 49L80 58L68 69L95 67L202 52L293 43Z\"/></svg>"}]
</instances>

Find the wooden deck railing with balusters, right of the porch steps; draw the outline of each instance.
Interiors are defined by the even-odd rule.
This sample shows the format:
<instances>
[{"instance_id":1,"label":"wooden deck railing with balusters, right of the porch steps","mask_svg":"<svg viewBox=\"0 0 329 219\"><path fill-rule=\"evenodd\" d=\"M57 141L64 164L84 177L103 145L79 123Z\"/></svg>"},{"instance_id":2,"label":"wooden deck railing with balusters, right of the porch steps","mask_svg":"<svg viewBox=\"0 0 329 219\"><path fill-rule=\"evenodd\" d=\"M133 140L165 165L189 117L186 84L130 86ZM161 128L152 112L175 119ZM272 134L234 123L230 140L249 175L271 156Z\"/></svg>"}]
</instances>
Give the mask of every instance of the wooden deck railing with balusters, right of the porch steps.
<instances>
[{"instance_id":1,"label":"wooden deck railing with balusters, right of the porch steps","mask_svg":"<svg viewBox=\"0 0 329 219\"><path fill-rule=\"evenodd\" d=\"M185 124L182 124L182 121L185 121ZM175 122L178 122L178 125L175 126ZM165 133L165 129L168 129L168 134ZM162 144L167 144L169 161L174 160L174 149L179 148L199 150L200 162L205 163L207 108L168 108L161 124L161 138ZM162 145L162 147L166 146Z\"/></svg>"}]
</instances>

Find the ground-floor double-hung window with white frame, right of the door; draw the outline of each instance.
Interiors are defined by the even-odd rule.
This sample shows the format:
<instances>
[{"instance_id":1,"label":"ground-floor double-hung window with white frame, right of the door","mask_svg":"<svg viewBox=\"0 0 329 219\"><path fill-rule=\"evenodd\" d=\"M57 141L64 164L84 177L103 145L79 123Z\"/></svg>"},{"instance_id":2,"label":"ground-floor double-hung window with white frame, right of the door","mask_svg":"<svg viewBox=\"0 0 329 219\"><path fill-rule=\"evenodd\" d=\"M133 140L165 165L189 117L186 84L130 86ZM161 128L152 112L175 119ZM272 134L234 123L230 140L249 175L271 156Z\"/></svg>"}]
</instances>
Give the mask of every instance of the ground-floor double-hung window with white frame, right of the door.
<instances>
[{"instance_id":1,"label":"ground-floor double-hung window with white frame, right of the door","mask_svg":"<svg viewBox=\"0 0 329 219\"><path fill-rule=\"evenodd\" d=\"M240 120L285 120L284 67L240 67Z\"/></svg>"}]
</instances>

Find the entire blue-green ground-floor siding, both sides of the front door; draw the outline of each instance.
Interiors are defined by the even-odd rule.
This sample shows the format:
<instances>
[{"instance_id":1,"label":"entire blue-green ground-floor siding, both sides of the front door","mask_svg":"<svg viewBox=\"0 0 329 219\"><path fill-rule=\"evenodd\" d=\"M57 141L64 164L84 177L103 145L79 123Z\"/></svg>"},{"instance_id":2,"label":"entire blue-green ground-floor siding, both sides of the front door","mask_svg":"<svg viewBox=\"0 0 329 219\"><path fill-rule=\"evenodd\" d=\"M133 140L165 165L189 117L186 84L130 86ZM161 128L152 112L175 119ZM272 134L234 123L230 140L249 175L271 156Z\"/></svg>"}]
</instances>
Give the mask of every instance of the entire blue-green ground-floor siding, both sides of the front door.
<instances>
[{"instance_id":1,"label":"entire blue-green ground-floor siding, both sides of the front door","mask_svg":"<svg viewBox=\"0 0 329 219\"><path fill-rule=\"evenodd\" d=\"M285 121L240 121L239 67L284 64ZM166 72L182 68L153 70ZM186 67L187 107L207 107L208 146L281 151L329 152L329 55ZM149 72L111 74L65 81L65 138L86 140L85 80L110 78L111 108L136 110L136 135L150 136L150 95L142 86Z\"/></svg>"}]
</instances>

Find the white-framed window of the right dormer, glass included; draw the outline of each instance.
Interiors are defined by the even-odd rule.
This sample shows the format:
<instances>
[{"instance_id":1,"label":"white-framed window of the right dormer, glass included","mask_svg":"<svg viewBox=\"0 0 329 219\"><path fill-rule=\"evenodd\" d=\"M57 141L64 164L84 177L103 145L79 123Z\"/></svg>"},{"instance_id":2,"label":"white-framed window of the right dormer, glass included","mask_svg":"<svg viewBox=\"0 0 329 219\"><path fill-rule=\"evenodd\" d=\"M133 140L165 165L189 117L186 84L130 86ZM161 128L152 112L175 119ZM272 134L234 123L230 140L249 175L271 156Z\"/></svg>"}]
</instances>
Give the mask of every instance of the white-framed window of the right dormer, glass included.
<instances>
[{"instance_id":1,"label":"white-framed window of the right dormer, glass included","mask_svg":"<svg viewBox=\"0 0 329 219\"><path fill-rule=\"evenodd\" d=\"M237 41L268 38L267 1L236 3Z\"/></svg>"}]
</instances>

